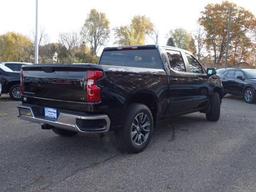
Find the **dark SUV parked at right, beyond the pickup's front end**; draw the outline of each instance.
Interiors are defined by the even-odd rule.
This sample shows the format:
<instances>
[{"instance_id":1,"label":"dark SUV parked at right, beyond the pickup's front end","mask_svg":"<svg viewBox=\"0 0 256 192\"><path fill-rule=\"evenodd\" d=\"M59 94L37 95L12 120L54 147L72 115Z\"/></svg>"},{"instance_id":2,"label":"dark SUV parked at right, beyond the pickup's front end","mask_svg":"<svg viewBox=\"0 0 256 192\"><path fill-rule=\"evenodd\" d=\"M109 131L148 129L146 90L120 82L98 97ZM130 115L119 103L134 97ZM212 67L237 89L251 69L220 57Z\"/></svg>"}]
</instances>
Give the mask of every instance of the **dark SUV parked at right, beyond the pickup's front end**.
<instances>
[{"instance_id":1,"label":"dark SUV parked at right, beyond the pickup's front end","mask_svg":"<svg viewBox=\"0 0 256 192\"><path fill-rule=\"evenodd\" d=\"M227 68L219 76L224 94L243 96L247 103L255 102L256 69Z\"/></svg>"}]
</instances>

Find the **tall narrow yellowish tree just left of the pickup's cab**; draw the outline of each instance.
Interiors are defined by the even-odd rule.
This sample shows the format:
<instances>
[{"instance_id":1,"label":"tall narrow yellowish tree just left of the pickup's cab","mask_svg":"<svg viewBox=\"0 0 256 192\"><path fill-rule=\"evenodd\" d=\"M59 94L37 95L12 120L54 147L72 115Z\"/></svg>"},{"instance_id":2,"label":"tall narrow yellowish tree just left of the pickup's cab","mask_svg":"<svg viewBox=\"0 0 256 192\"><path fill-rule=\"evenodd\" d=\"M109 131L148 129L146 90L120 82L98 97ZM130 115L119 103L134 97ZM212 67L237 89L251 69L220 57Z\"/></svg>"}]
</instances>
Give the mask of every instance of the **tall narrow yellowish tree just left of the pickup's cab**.
<instances>
[{"instance_id":1,"label":"tall narrow yellowish tree just left of the pickup's cab","mask_svg":"<svg viewBox=\"0 0 256 192\"><path fill-rule=\"evenodd\" d=\"M83 36L91 44L91 54L97 54L100 46L107 42L109 33L109 21L106 14L91 9L82 28Z\"/></svg>"}]
</instances>

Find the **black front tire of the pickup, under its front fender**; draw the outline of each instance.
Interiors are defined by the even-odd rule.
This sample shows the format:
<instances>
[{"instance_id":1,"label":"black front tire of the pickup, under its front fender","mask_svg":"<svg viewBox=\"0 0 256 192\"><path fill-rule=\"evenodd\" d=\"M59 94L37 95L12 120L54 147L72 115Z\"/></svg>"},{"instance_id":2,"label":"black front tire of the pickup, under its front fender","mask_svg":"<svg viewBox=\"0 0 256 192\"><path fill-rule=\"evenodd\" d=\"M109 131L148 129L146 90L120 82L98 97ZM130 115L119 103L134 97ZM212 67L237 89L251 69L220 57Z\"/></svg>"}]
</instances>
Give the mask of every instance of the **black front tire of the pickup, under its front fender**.
<instances>
[{"instance_id":1,"label":"black front tire of the pickup, under its front fender","mask_svg":"<svg viewBox=\"0 0 256 192\"><path fill-rule=\"evenodd\" d=\"M220 96L217 92L212 93L210 112L206 113L208 121L218 121L220 118Z\"/></svg>"}]
</instances>

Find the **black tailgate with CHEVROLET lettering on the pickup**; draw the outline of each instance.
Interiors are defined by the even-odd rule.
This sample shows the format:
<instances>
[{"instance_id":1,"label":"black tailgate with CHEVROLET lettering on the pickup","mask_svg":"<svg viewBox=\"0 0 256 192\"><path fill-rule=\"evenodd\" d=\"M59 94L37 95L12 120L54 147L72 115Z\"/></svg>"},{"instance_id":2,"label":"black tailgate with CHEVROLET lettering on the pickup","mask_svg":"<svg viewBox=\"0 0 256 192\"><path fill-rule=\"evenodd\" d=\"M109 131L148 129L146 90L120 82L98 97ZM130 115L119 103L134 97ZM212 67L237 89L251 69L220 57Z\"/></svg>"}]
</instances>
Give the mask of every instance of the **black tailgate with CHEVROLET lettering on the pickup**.
<instances>
[{"instance_id":1,"label":"black tailgate with CHEVROLET lettering on the pickup","mask_svg":"<svg viewBox=\"0 0 256 192\"><path fill-rule=\"evenodd\" d=\"M86 65L23 67L24 96L86 102Z\"/></svg>"}]
</instances>

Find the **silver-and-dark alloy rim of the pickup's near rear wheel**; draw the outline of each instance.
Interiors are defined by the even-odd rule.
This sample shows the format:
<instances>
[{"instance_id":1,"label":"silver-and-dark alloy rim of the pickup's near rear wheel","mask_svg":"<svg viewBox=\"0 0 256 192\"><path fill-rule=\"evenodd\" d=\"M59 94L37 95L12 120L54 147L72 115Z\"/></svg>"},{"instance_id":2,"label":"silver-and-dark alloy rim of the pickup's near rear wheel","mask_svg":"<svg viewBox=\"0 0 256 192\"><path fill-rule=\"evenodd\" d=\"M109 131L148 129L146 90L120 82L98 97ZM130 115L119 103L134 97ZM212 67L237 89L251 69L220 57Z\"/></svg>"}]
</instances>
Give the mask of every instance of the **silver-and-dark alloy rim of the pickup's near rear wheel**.
<instances>
[{"instance_id":1,"label":"silver-and-dark alloy rim of the pickup's near rear wheel","mask_svg":"<svg viewBox=\"0 0 256 192\"><path fill-rule=\"evenodd\" d=\"M132 123L131 137L136 145L141 145L148 139L150 120L147 114L138 114Z\"/></svg>"}]
</instances>

